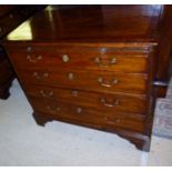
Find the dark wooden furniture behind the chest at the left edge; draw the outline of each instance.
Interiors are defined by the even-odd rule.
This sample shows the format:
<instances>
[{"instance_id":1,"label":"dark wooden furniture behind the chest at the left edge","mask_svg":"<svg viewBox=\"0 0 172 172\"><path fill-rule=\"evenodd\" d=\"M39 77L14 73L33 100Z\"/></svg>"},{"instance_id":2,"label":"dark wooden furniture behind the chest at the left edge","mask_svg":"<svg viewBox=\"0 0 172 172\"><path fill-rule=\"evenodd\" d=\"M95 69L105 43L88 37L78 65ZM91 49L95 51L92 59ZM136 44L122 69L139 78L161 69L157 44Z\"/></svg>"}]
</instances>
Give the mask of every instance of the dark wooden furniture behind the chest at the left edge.
<instances>
[{"instance_id":1,"label":"dark wooden furniture behind the chest at the left edge","mask_svg":"<svg viewBox=\"0 0 172 172\"><path fill-rule=\"evenodd\" d=\"M44 6L1 4L0 39L42 8ZM13 79L14 71L10 65L4 48L0 44L0 99L7 99L10 95L9 88Z\"/></svg>"}]
</instances>

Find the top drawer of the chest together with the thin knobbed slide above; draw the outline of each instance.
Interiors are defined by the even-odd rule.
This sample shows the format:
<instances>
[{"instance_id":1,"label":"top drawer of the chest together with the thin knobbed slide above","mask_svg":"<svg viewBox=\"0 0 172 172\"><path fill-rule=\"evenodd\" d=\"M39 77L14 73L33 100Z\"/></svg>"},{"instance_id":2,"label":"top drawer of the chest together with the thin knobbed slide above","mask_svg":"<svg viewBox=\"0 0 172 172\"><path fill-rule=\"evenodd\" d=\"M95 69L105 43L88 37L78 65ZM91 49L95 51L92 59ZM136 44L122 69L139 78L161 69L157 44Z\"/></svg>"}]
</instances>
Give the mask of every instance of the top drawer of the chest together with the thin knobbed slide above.
<instances>
[{"instance_id":1,"label":"top drawer of the chest together with the thin knobbed slide above","mask_svg":"<svg viewBox=\"0 0 172 172\"><path fill-rule=\"evenodd\" d=\"M72 47L23 47L11 51L10 58L28 69L89 69L120 72L146 72L148 51L133 49L93 49ZM134 68L133 68L134 67Z\"/></svg>"}]
</instances>

